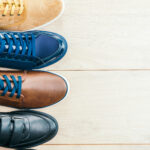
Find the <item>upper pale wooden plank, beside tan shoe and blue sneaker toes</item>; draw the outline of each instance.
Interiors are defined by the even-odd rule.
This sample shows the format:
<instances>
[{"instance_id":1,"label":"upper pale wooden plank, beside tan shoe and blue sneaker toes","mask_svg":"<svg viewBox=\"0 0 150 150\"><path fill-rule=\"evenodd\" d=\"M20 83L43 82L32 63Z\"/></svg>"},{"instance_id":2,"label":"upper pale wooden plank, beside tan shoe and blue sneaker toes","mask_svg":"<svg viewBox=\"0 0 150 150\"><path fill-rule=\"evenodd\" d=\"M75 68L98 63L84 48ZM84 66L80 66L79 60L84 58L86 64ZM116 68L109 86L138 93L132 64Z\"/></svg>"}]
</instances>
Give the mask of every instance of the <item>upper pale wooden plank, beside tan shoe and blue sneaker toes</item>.
<instances>
[{"instance_id":1,"label":"upper pale wooden plank, beside tan shoe and blue sneaker toes","mask_svg":"<svg viewBox=\"0 0 150 150\"><path fill-rule=\"evenodd\" d=\"M69 43L64 59L49 69L150 69L149 0L65 1L64 15L41 28Z\"/></svg>"}]
</instances>

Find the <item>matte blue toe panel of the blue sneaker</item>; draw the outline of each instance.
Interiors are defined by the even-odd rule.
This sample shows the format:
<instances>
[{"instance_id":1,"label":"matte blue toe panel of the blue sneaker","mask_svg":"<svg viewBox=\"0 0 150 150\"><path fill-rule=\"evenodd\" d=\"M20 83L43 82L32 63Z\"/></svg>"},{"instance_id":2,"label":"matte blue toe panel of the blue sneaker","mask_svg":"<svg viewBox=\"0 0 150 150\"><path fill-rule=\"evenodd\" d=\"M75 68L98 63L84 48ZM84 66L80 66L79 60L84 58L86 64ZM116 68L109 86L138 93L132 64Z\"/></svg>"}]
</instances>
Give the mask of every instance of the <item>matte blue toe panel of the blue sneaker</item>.
<instances>
[{"instance_id":1,"label":"matte blue toe panel of the blue sneaker","mask_svg":"<svg viewBox=\"0 0 150 150\"><path fill-rule=\"evenodd\" d=\"M59 42L48 36L40 35L35 39L36 56L40 58L46 58L52 55L59 48Z\"/></svg>"}]
</instances>

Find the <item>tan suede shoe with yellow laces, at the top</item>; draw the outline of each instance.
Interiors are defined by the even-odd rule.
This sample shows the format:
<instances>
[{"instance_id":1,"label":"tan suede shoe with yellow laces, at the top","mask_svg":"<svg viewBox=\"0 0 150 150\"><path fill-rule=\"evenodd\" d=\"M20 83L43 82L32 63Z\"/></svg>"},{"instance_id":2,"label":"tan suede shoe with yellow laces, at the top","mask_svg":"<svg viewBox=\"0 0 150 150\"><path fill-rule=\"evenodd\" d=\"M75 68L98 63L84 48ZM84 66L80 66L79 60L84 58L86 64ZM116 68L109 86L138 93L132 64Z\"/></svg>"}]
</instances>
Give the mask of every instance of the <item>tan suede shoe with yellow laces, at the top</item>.
<instances>
[{"instance_id":1,"label":"tan suede shoe with yellow laces, at the top","mask_svg":"<svg viewBox=\"0 0 150 150\"><path fill-rule=\"evenodd\" d=\"M63 0L0 0L0 30L37 29L56 20Z\"/></svg>"}]
</instances>

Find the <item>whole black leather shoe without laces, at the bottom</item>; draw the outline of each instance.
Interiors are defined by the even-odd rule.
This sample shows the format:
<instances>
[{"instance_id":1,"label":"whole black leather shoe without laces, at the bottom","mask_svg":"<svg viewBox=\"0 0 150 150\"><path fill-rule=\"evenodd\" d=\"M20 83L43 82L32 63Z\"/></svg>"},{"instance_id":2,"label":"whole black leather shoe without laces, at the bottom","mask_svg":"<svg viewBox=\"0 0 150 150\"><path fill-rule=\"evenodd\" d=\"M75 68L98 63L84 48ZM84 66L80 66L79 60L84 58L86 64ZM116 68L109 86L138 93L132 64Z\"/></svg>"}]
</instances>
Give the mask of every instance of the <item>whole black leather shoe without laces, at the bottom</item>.
<instances>
[{"instance_id":1,"label":"whole black leather shoe without laces, at the bottom","mask_svg":"<svg viewBox=\"0 0 150 150\"><path fill-rule=\"evenodd\" d=\"M30 148L51 140L58 131L57 121L37 111L0 113L0 146Z\"/></svg>"}]
</instances>

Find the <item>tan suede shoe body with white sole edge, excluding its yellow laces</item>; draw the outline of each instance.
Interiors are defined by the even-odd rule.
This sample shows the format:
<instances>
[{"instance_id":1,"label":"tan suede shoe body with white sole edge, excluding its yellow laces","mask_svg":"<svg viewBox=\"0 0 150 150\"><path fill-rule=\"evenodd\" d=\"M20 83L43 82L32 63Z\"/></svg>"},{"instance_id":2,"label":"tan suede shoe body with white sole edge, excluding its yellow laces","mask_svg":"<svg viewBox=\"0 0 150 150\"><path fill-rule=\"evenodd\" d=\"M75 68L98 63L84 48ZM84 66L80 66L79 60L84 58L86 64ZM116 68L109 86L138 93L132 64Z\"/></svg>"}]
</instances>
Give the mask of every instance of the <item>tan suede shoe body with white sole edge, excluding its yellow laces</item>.
<instances>
[{"instance_id":1,"label":"tan suede shoe body with white sole edge, excluding its yellow laces","mask_svg":"<svg viewBox=\"0 0 150 150\"><path fill-rule=\"evenodd\" d=\"M20 16L0 15L0 30L38 29L57 20L64 11L63 0L24 0L24 2L24 12Z\"/></svg>"}]
</instances>

